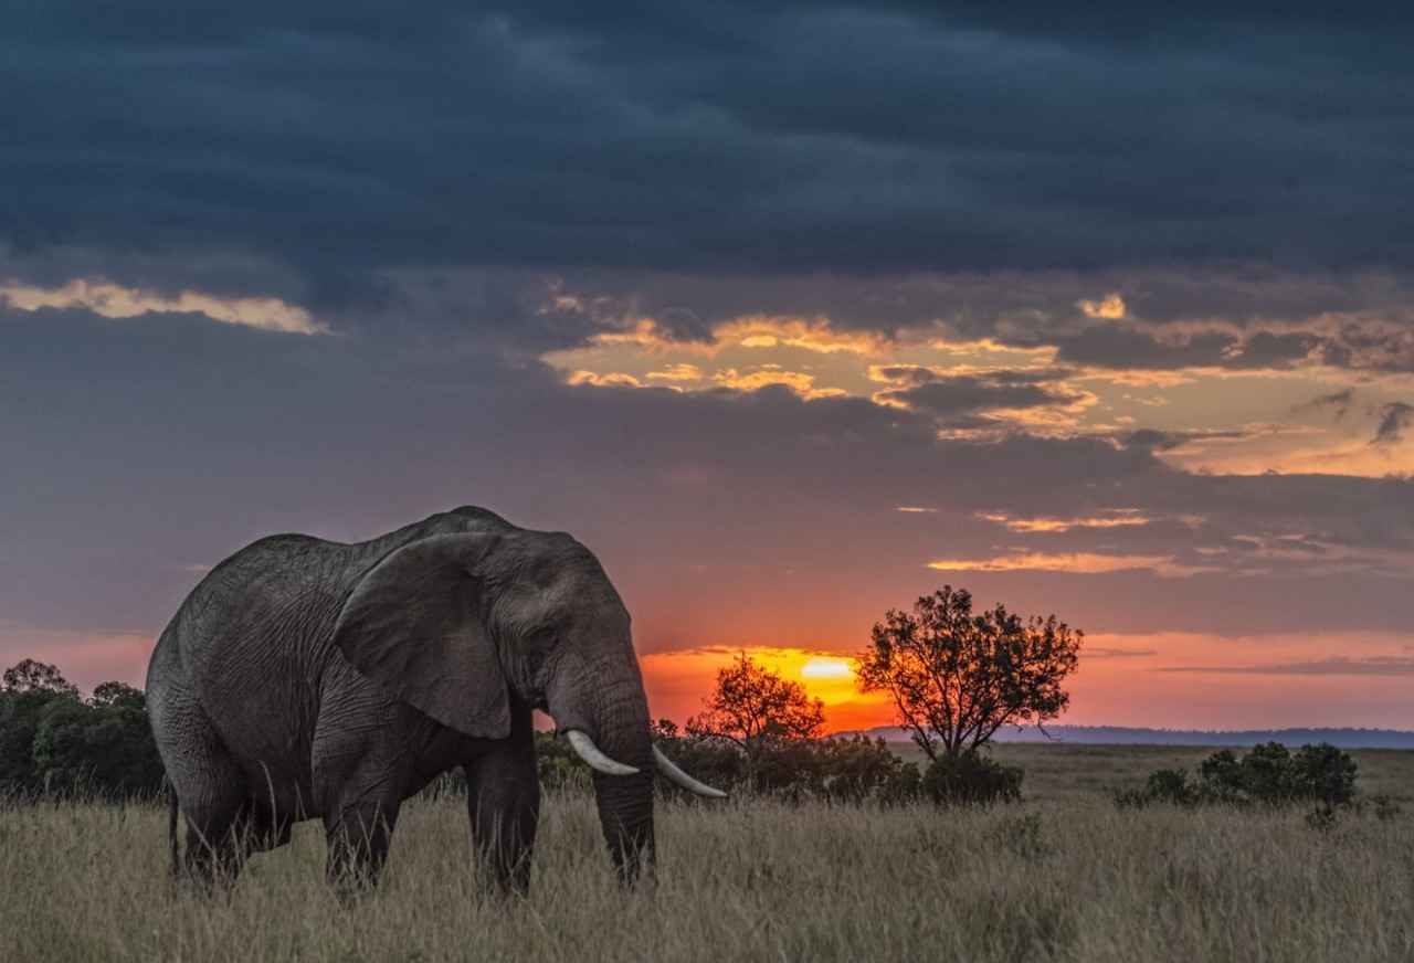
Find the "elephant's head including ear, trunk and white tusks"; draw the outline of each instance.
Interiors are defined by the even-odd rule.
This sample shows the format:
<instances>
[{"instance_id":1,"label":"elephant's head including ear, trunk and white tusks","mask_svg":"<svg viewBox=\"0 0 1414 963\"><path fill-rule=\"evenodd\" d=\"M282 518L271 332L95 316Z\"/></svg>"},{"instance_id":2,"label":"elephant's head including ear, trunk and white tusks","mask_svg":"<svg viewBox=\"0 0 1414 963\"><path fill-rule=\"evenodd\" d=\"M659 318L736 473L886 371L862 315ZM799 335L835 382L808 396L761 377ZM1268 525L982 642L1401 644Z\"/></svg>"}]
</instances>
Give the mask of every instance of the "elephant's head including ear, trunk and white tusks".
<instances>
[{"instance_id":1,"label":"elephant's head including ear, trunk and white tusks","mask_svg":"<svg viewBox=\"0 0 1414 963\"><path fill-rule=\"evenodd\" d=\"M632 880L653 854L655 765L721 793L652 745L629 614L598 560L568 535L489 518L380 560L345 601L335 642L389 693L471 737L509 734L512 693L547 711L594 766L604 836Z\"/></svg>"}]
</instances>

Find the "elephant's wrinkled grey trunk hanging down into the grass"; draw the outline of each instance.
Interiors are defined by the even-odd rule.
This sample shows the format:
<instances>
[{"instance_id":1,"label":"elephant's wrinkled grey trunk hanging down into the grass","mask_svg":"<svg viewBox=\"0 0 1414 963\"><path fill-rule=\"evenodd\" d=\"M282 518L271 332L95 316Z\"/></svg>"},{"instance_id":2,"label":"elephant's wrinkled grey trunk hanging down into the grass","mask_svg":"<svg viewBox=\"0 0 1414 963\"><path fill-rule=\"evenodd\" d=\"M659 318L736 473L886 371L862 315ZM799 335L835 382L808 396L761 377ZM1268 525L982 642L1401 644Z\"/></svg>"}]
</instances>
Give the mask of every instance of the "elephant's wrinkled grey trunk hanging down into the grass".
<instances>
[{"instance_id":1,"label":"elephant's wrinkled grey trunk hanging down into the grass","mask_svg":"<svg viewBox=\"0 0 1414 963\"><path fill-rule=\"evenodd\" d=\"M632 648L626 659L567 659L547 687L546 701L561 731L578 730L609 759L638 769L632 775L594 774L604 840L619 878L633 882L653 865L653 747L648 697Z\"/></svg>"}]
</instances>

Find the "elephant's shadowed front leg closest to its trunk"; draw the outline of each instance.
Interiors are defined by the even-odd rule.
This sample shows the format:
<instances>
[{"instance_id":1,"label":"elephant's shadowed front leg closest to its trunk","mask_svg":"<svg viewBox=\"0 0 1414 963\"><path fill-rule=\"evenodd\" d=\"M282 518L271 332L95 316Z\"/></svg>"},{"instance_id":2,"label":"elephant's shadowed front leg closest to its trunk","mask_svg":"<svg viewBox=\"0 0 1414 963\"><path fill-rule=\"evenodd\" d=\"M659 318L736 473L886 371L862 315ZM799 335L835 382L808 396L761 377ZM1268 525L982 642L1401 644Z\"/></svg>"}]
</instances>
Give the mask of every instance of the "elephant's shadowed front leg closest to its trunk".
<instances>
[{"instance_id":1,"label":"elephant's shadowed front leg closest to its trunk","mask_svg":"<svg viewBox=\"0 0 1414 963\"><path fill-rule=\"evenodd\" d=\"M529 892L540 819L534 745L506 745L467 764L467 809L472 846L496 884L502 891Z\"/></svg>"}]
</instances>

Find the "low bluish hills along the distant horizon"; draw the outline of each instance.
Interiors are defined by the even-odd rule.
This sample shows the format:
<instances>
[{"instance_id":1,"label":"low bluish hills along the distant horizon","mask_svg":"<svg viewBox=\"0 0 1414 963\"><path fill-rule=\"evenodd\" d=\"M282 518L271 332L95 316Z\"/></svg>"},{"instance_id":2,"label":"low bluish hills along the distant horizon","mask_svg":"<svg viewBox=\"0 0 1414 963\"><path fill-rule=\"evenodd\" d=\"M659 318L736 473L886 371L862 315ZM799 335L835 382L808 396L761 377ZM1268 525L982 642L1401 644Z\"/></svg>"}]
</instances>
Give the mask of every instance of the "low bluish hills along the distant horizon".
<instances>
[{"instance_id":1,"label":"low bluish hills along the distant horizon","mask_svg":"<svg viewBox=\"0 0 1414 963\"><path fill-rule=\"evenodd\" d=\"M1414 749L1414 733L1393 728L1264 728L1264 730L1184 730L1130 728L1124 725L1048 725L1051 740L1035 727L1003 730L998 742L1068 742L1072 745L1233 745L1258 742L1329 742L1342 749ZM889 742L906 742L908 733L894 725L877 725L863 735Z\"/></svg>"}]
</instances>

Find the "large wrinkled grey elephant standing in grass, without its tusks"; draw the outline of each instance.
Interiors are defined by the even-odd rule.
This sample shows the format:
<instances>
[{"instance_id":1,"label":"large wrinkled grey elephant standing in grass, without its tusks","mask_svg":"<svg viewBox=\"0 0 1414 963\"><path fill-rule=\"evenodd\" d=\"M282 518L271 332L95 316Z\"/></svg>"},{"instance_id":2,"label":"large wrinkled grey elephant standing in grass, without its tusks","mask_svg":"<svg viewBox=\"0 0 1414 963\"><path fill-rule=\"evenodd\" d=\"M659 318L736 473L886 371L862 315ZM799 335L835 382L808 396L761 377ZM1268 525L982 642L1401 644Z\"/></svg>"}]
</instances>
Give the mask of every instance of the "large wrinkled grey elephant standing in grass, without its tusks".
<instances>
[{"instance_id":1,"label":"large wrinkled grey elephant standing in grass, without its tusks","mask_svg":"<svg viewBox=\"0 0 1414 963\"><path fill-rule=\"evenodd\" d=\"M232 880L322 819L332 881L376 881L404 799L464 766L472 841L525 891L540 806L532 708L631 776L595 774L621 880L653 860L648 701L629 615L564 533L458 508L358 544L279 535L187 597L147 669L188 833L174 871Z\"/></svg>"}]
</instances>

